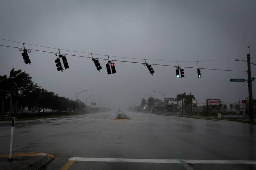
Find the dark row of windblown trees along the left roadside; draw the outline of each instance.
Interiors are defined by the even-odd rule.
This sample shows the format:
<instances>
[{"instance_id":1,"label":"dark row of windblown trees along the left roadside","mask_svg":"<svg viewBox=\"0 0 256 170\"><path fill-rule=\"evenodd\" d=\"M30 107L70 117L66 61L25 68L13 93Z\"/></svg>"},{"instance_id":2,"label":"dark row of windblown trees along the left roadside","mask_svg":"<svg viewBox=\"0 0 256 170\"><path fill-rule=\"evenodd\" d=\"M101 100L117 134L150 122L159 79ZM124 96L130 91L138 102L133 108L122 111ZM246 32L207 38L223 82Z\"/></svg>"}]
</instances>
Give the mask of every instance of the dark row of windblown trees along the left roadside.
<instances>
[{"instance_id":1,"label":"dark row of windblown trees along the left roadside","mask_svg":"<svg viewBox=\"0 0 256 170\"><path fill-rule=\"evenodd\" d=\"M76 101L58 96L52 91L47 91L32 81L29 74L13 68L7 75L0 75L0 99L2 118L6 113L9 116L19 116L26 107L41 111L74 111ZM77 102L78 111L82 111L84 103ZM14 113L14 115L12 115Z\"/></svg>"}]
</instances>

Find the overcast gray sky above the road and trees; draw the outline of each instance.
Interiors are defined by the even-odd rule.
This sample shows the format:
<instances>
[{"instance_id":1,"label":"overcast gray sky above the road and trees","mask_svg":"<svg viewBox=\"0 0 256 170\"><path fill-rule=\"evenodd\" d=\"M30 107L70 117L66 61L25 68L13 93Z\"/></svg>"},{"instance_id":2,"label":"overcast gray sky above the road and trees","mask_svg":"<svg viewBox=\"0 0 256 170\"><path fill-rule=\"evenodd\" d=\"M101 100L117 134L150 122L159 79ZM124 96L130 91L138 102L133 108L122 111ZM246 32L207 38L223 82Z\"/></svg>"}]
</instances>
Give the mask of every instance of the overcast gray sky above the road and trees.
<instances>
[{"instance_id":1,"label":"overcast gray sky above the road and trees","mask_svg":"<svg viewBox=\"0 0 256 170\"><path fill-rule=\"evenodd\" d=\"M2 0L0 11L3 39L89 53L180 61L181 67L197 67L195 62L182 61L246 58L251 44L251 62L256 63L255 0ZM22 47L3 40L0 44ZM58 72L53 54L32 51L29 56L31 66L24 63L20 51L0 47L0 74L22 69L34 82L59 96L75 99L76 92L87 89L79 99L85 102L86 96L95 94L108 107L139 104L147 94L163 99L154 90L169 98L192 92L198 103L204 98L238 102L238 98L248 96L246 82L230 82L230 78L246 78L246 72L201 70L202 78L197 78L196 69L184 68L185 78L177 79L175 67L153 66L152 76L142 64L115 62L117 73L107 75L105 60L99 60L103 69L98 72L91 59L71 56L67 56L70 68ZM245 62L234 60L199 62L199 67L247 70ZM255 73L252 65L252 76L256 77Z\"/></svg>"}]
</instances>

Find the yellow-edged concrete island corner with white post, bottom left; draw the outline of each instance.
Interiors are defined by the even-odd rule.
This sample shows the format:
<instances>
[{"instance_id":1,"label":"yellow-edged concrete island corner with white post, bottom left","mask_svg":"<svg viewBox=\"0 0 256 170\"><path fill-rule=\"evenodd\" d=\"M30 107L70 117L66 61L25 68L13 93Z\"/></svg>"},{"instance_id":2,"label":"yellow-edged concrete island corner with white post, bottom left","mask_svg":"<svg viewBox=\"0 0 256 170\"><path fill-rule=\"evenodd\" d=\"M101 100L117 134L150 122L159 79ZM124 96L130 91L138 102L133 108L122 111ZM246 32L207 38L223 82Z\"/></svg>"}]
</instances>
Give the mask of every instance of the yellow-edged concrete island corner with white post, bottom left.
<instances>
[{"instance_id":1,"label":"yellow-edged concrete island corner with white post, bottom left","mask_svg":"<svg viewBox=\"0 0 256 170\"><path fill-rule=\"evenodd\" d=\"M0 169L4 170L38 170L44 169L55 157L46 153L12 154L12 162L7 161L9 154L0 155Z\"/></svg>"}]
</instances>

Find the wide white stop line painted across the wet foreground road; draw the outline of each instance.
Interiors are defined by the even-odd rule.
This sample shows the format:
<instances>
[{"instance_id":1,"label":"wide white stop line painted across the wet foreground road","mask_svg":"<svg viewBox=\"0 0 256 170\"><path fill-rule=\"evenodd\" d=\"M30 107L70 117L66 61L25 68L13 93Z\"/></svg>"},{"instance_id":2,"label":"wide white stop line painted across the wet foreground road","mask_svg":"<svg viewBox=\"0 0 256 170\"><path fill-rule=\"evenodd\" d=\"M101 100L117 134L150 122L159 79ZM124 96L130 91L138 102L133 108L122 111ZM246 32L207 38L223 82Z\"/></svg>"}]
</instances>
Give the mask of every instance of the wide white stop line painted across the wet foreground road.
<instances>
[{"instance_id":1,"label":"wide white stop line painted across the wet foreground road","mask_svg":"<svg viewBox=\"0 0 256 170\"><path fill-rule=\"evenodd\" d=\"M256 164L249 160L197 160L197 159L129 159L129 158L69 158L69 161L135 162L135 163L212 163L212 164Z\"/></svg>"}]
</instances>

